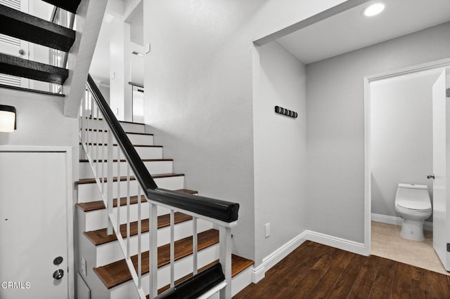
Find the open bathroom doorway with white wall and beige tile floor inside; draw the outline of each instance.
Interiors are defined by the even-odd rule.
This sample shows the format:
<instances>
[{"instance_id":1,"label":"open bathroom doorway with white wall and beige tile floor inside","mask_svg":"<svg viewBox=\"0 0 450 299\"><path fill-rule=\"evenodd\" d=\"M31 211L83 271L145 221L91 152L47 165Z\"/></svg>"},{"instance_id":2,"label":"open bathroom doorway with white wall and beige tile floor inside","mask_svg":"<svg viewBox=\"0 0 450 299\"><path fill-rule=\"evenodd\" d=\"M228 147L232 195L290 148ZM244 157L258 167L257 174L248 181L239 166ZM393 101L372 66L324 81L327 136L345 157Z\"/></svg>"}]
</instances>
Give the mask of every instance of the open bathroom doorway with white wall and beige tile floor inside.
<instances>
[{"instance_id":1,"label":"open bathroom doorway with white wall and beige tile floor inside","mask_svg":"<svg viewBox=\"0 0 450 299\"><path fill-rule=\"evenodd\" d=\"M433 196L432 86L449 60L364 79L365 241L368 253L446 274L432 244L432 216L425 241L399 236L395 211L399 183L428 187Z\"/></svg>"}]
</instances>

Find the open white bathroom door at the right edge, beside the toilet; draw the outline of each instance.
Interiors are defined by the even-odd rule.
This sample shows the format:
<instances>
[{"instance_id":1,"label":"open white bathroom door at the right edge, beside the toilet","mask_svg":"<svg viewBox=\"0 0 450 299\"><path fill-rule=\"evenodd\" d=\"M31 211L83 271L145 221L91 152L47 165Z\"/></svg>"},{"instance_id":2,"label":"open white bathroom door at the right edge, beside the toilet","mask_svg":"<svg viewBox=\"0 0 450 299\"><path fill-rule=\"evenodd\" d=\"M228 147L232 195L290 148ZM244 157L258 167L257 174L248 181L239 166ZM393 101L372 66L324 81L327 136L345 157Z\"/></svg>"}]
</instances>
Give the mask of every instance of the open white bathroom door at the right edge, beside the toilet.
<instances>
[{"instance_id":1,"label":"open white bathroom door at the right edge, beside the toilet","mask_svg":"<svg viewBox=\"0 0 450 299\"><path fill-rule=\"evenodd\" d=\"M445 94L446 71L432 87L433 117L433 247L447 271L450 271L450 105Z\"/></svg>"}]
</instances>

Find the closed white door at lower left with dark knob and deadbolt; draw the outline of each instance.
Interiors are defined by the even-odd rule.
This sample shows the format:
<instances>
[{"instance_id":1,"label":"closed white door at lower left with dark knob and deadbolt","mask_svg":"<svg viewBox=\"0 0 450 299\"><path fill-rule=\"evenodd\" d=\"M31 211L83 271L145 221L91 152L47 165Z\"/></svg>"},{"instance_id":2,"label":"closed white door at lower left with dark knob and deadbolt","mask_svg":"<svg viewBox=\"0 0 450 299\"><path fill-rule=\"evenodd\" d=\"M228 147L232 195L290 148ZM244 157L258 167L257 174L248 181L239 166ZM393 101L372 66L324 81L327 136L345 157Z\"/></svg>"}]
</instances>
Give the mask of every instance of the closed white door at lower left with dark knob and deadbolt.
<instances>
[{"instance_id":1,"label":"closed white door at lower left with dark knob and deadbolt","mask_svg":"<svg viewBox=\"0 0 450 299\"><path fill-rule=\"evenodd\" d=\"M0 152L1 299L68 298L65 159L65 152Z\"/></svg>"}]
</instances>

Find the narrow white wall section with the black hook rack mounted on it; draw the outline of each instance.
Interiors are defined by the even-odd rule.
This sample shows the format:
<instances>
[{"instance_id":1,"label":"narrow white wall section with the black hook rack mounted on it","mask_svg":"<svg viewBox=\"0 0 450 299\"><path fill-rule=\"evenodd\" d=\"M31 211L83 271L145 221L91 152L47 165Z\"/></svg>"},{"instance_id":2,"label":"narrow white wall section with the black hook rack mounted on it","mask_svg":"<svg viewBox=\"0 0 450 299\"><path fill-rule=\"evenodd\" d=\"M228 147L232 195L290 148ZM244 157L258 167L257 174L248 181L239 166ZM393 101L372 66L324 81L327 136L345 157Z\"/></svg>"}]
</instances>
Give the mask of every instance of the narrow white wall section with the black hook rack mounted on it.
<instances>
[{"instance_id":1,"label":"narrow white wall section with the black hook rack mounted on it","mask_svg":"<svg viewBox=\"0 0 450 299\"><path fill-rule=\"evenodd\" d=\"M307 200L306 67L276 41L258 52L260 92L253 102L256 265L306 229ZM297 119L276 114L277 105L297 112Z\"/></svg>"}]
</instances>

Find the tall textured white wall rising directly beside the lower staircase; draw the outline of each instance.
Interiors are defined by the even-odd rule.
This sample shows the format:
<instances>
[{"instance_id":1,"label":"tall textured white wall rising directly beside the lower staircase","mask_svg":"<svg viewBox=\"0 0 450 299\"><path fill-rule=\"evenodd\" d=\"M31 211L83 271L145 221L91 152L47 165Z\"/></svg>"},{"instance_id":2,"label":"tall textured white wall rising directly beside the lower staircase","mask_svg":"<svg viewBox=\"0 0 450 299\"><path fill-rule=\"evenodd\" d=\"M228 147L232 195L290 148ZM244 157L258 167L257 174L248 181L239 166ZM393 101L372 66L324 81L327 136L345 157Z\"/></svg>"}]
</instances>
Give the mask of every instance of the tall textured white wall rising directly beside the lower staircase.
<instances>
[{"instance_id":1,"label":"tall textured white wall rising directly beside the lower staircase","mask_svg":"<svg viewBox=\"0 0 450 299\"><path fill-rule=\"evenodd\" d=\"M240 203L233 245L245 258L255 260L252 41L342 2L144 1L146 124L186 187Z\"/></svg>"}]
</instances>

